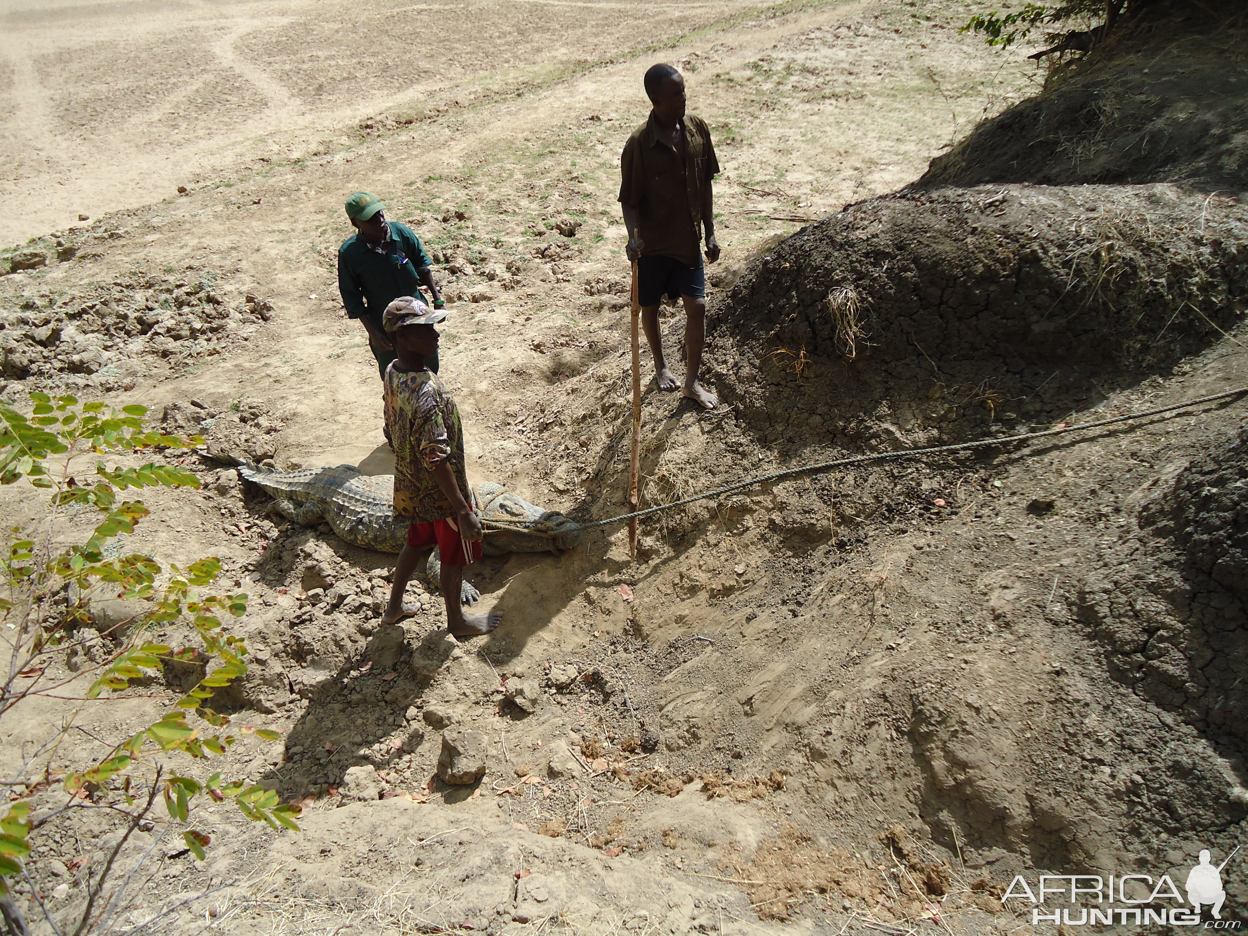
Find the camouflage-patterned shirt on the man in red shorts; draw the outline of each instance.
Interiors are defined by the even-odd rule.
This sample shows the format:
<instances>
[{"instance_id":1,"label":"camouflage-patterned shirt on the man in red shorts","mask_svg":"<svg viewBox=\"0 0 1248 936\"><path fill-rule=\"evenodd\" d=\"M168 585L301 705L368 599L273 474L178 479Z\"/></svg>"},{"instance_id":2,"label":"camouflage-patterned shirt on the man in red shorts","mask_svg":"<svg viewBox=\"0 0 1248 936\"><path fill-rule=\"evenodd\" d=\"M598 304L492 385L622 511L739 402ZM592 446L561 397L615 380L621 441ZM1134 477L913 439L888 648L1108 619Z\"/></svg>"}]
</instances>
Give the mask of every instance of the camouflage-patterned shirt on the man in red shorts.
<instances>
[{"instance_id":1,"label":"camouflage-patterned shirt on the man in red shorts","mask_svg":"<svg viewBox=\"0 0 1248 936\"><path fill-rule=\"evenodd\" d=\"M464 470L464 433L459 409L446 384L432 371L386 371L386 427L394 446L394 515L413 523L454 517L433 468L451 463L464 500L472 494Z\"/></svg>"}]
</instances>

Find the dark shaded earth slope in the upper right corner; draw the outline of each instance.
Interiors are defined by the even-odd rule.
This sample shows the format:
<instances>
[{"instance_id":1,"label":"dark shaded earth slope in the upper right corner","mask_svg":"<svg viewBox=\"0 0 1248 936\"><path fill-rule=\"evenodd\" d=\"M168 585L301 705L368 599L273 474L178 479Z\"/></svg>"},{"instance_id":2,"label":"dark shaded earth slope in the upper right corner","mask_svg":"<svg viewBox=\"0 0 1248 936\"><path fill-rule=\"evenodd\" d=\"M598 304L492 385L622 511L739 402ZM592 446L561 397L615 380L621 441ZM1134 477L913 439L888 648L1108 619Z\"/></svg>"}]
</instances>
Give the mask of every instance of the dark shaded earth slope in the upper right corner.
<instances>
[{"instance_id":1,"label":"dark shaded earth slope in the upper right corner","mask_svg":"<svg viewBox=\"0 0 1248 936\"><path fill-rule=\"evenodd\" d=\"M1086 59L1052 61L1045 92L981 124L932 160L917 186L1248 190L1248 17L1233 6L1238 15L1231 4L1166 4L1126 20Z\"/></svg>"}]
</instances>

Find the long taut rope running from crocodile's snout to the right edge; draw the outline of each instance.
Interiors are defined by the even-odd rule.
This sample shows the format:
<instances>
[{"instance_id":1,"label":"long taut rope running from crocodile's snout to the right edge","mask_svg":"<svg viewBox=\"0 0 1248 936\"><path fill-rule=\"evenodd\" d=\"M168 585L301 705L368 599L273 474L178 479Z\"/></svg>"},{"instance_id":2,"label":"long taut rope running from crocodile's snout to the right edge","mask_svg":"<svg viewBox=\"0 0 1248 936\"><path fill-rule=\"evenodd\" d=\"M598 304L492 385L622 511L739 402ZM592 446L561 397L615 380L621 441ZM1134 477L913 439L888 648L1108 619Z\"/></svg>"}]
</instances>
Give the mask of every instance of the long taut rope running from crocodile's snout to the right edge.
<instances>
[{"instance_id":1,"label":"long taut rope running from crocodile's snout to the right edge","mask_svg":"<svg viewBox=\"0 0 1248 936\"><path fill-rule=\"evenodd\" d=\"M896 452L879 452L869 456L851 456L850 458L837 458L832 462L820 462L817 464L805 464L797 468L785 468L784 470L771 472L770 474L761 474L756 478L750 478L749 480L738 482L736 484L729 484L723 488L715 488L714 490L708 490L703 494L694 494L693 497L686 497L681 500L673 500L668 504L659 504L658 507L648 507L644 510L635 510L633 513L620 514L619 517L612 517L605 520L594 520L593 523L585 523L574 527L563 527L559 533L572 533L575 530L598 529L599 527L610 527L614 523L623 523L625 520L631 520L634 518L640 519L641 517L649 517L650 514L663 513L664 510L673 510L678 507L684 507L685 504L693 504L698 500L706 500L713 497L723 497L724 494L731 494L736 490L744 490L745 488L753 488L756 484L765 484L769 480L776 480L779 478L791 478L797 474L811 474L815 472L826 472L832 468L844 468L851 464L864 464L866 462L886 462L886 461L900 461L902 458L917 458L919 456L934 456L943 452L966 452L973 448L988 448L991 446L1006 446L1011 442L1026 442L1027 439L1041 439L1050 436L1065 436L1071 432L1083 432L1086 429L1097 429L1102 426L1113 426L1114 423L1124 423L1131 419L1147 419L1151 416L1161 416L1162 413L1173 413L1176 409L1187 409L1189 407L1203 406L1204 403L1213 403L1219 399L1228 399L1231 397L1239 397L1248 393L1248 387L1239 387L1233 391L1224 391L1222 393L1213 393L1208 397L1201 397L1199 399L1189 399L1186 403L1172 403L1166 407L1157 407L1154 409L1143 409L1138 413L1127 413L1126 416L1114 416L1108 419L1097 419L1091 423L1081 423L1078 426L1066 426L1060 429L1041 429L1038 432L1025 432L1020 436L1002 436L1000 438L992 439L977 439L976 442L957 442L951 446L934 446L930 448L904 448ZM489 525L495 525L499 529L533 529L534 532L547 532L540 530L542 525L547 525L548 522L542 520L503 520L503 519L490 519L485 520L487 528ZM553 533L553 530L552 530Z\"/></svg>"}]
</instances>

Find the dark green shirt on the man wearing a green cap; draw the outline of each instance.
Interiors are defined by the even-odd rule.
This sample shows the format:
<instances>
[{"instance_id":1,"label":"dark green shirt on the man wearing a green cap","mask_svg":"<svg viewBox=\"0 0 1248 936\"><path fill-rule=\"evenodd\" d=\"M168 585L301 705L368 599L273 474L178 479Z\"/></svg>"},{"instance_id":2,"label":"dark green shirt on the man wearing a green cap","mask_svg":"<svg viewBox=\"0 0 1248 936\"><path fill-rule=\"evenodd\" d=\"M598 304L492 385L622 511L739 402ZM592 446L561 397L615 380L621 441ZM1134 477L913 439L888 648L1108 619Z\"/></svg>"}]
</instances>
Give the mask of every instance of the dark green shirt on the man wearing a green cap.
<instances>
[{"instance_id":1,"label":"dark green shirt on the man wearing a green cap","mask_svg":"<svg viewBox=\"0 0 1248 936\"><path fill-rule=\"evenodd\" d=\"M387 221L384 253L368 246L363 235L348 237L338 248L338 292L348 318L367 318L382 328L382 312L399 296L419 296L418 270L433 263L412 228Z\"/></svg>"}]
</instances>

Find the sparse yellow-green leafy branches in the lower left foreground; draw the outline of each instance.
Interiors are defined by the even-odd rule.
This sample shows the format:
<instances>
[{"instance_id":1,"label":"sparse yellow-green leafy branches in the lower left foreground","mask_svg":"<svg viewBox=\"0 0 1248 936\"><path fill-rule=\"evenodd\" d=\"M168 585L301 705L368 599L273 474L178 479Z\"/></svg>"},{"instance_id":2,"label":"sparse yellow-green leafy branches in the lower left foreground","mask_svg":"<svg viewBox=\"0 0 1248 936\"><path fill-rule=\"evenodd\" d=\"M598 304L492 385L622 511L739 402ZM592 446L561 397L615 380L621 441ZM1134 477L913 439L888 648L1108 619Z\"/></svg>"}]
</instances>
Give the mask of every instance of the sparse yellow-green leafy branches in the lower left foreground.
<instances>
[{"instance_id":1,"label":"sparse yellow-green leafy branches in the lower left foreground","mask_svg":"<svg viewBox=\"0 0 1248 936\"><path fill-rule=\"evenodd\" d=\"M211 839L188 827L197 797L207 796L217 802L231 800L245 816L273 829L298 829L295 820L300 807L281 804L275 791L262 786L222 780L220 773L200 780L185 771L170 771L170 755L206 760L225 754L237 740L231 733L230 716L216 711L212 699L247 671L246 643L228 626L230 620L246 614L247 595L201 593L221 574L216 558L200 559L185 568L171 564L166 573L160 563L141 553L115 554L112 544L149 517L141 500L120 499L120 492L152 487L197 488L198 479L183 468L155 462L110 467L96 459L92 470L80 474L72 470L74 461L85 454L190 448L202 439L149 431L147 411L141 406L119 409L44 393L31 393L30 399L29 416L0 404L0 484L25 479L34 488L50 492L42 538L24 535L15 528L7 548L0 549L0 622L6 625L0 631L4 638L0 643L9 650L7 660L0 658L0 718L25 700L82 679L82 671L59 681L45 678L46 658L84 624L92 623L92 603L100 599L139 602L141 610L94 638L97 646L109 640L110 649L106 659L86 670L94 676L89 688L70 690L81 693L79 698L84 703L105 693L125 691L137 679L160 675L173 661L215 660L196 685L171 703L171 709L161 718L117 744L99 761L55 778L70 799L51 815L42 815L37 821L30 816L30 796L54 781L50 761L45 763L41 779L26 776L31 760L24 763L12 779L15 782L22 780L27 791L24 797L11 801L0 819L0 895L7 894L5 879L21 872L22 861L35 847L32 834L55 815L76 806L104 805L127 816L129 829L110 854L105 869L87 877L87 909L75 930L86 932L99 924L99 920L91 921L91 907L104 894L122 844L140 821L145 821L157 796L163 800L167 814L167 819L158 821L181 827L187 849L200 859L205 857ZM84 542L60 545L52 532L60 513L66 509L97 510L102 517ZM155 630L173 623L190 624L198 645L173 649L152 639ZM86 638L79 639L86 641ZM188 721L192 716L203 724L192 725ZM55 748L71 726L72 718L40 745L39 751ZM238 733L280 740L276 731L247 725ZM125 887L122 884L116 890L110 907L116 906ZM9 901L9 897L2 900ZM9 907L6 902L6 911ZM60 931L51 917L49 921Z\"/></svg>"}]
</instances>

